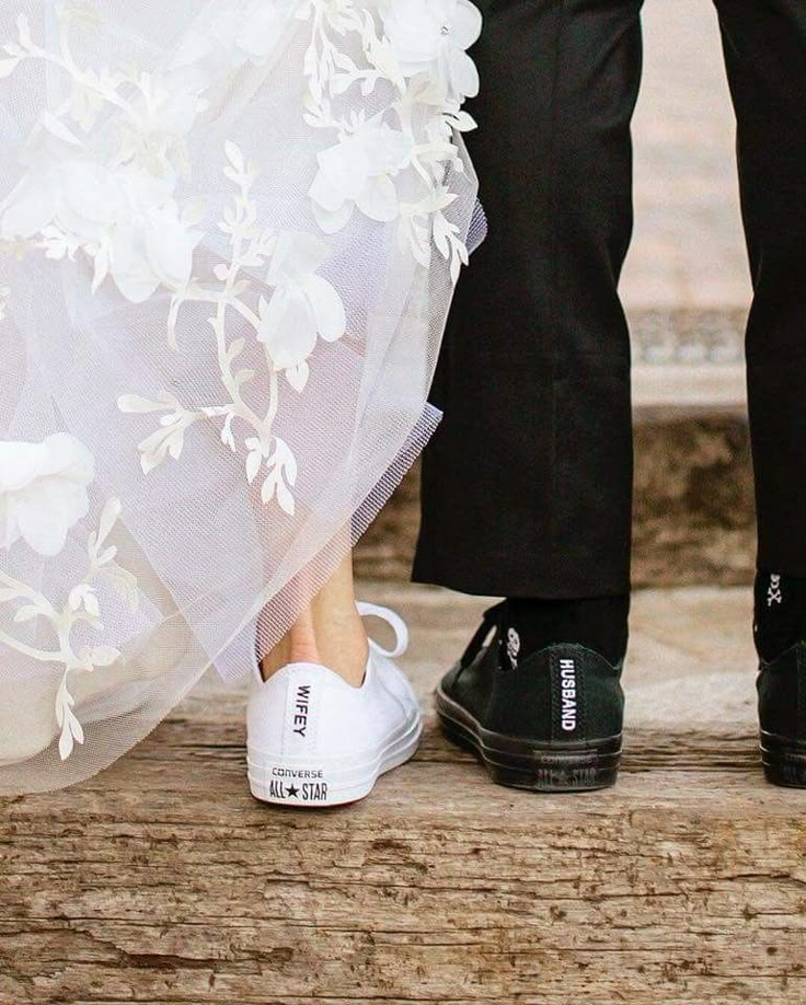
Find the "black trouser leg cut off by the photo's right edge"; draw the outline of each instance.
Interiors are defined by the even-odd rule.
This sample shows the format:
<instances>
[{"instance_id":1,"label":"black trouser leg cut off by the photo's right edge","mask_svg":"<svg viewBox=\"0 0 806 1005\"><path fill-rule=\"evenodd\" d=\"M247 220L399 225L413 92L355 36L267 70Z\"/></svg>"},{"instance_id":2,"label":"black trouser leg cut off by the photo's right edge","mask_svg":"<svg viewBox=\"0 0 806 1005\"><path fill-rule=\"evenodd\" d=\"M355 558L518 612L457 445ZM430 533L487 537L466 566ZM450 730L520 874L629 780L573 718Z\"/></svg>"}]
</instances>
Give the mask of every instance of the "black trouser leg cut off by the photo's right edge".
<instances>
[{"instance_id":1,"label":"black trouser leg cut off by the photo's right edge","mask_svg":"<svg viewBox=\"0 0 806 1005\"><path fill-rule=\"evenodd\" d=\"M759 568L806 577L806 2L717 0L755 299Z\"/></svg>"}]
</instances>

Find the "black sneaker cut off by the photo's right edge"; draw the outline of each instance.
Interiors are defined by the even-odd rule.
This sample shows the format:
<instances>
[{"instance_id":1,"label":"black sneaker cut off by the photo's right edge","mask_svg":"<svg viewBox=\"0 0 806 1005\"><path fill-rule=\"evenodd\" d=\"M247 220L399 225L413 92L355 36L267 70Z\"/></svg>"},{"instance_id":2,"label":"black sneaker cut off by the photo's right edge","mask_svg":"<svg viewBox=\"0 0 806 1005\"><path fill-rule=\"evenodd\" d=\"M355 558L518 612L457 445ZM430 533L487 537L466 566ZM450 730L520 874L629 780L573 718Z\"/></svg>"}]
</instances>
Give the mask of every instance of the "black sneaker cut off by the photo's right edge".
<instances>
[{"instance_id":1,"label":"black sneaker cut off by the photo's right edge","mask_svg":"<svg viewBox=\"0 0 806 1005\"><path fill-rule=\"evenodd\" d=\"M758 694L767 779L806 788L806 642L775 659L761 659Z\"/></svg>"}]
</instances>

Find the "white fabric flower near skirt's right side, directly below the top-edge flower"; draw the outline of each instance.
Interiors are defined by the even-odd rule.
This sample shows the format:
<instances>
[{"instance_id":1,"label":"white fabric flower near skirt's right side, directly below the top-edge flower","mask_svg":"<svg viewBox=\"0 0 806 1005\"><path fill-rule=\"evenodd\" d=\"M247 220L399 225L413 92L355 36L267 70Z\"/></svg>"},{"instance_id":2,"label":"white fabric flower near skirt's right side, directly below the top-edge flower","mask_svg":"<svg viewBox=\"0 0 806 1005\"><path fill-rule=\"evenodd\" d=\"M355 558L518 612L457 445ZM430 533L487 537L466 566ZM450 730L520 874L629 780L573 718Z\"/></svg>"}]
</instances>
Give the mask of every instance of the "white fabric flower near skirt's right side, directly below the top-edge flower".
<instances>
[{"instance_id":1,"label":"white fabric flower near skirt's right side, directly below the top-edge flower","mask_svg":"<svg viewBox=\"0 0 806 1005\"><path fill-rule=\"evenodd\" d=\"M356 206L370 220L394 220L399 204L392 178L406 166L412 152L411 137L377 119L322 151L309 193L322 230L341 230Z\"/></svg>"}]
</instances>

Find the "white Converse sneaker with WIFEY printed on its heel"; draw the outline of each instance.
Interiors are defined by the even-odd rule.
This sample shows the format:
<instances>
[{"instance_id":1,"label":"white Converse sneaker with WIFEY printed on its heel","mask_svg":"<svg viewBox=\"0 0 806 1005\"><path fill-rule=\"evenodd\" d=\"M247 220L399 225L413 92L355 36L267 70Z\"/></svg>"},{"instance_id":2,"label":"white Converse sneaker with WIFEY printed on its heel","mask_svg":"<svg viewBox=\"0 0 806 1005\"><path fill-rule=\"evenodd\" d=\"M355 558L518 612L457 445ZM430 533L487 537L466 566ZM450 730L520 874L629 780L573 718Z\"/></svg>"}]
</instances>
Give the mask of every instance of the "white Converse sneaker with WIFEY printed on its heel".
<instances>
[{"instance_id":1,"label":"white Converse sneaker with WIFEY printed on its heel","mask_svg":"<svg viewBox=\"0 0 806 1005\"><path fill-rule=\"evenodd\" d=\"M383 772L407 761L423 731L419 703L393 659L408 631L393 611L359 603L394 628L394 649L370 639L354 688L321 663L289 663L267 681L255 661L246 711L252 795L284 806L338 806L369 795Z\"/></svg>"}]
</instances>

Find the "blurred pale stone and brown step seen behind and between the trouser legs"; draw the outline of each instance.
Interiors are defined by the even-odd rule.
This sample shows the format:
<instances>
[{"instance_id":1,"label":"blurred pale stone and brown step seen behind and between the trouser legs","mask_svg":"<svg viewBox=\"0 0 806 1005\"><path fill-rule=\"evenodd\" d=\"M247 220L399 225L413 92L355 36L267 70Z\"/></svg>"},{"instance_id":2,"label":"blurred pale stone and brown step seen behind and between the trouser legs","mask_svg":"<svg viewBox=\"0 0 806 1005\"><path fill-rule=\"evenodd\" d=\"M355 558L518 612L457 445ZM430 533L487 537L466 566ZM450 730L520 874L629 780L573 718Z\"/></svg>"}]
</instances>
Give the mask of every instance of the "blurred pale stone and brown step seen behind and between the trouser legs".
<instances>
[{"instance_id":1,"label":"blurred pale stone and brown step seen behind and between the trouser legs","mask_svg":"<svg viewBox=\"0 0 806 1005\"><path fill-rule=\"evenodd\" d=\"M755 542L741 362L750 284L716 14L710 0L647 0L644 36L622 280L635 363L633 578L742 585ZM361 543L359 575L406 578L417 521L414 471Z\"/></svg>"}]
</instances>

